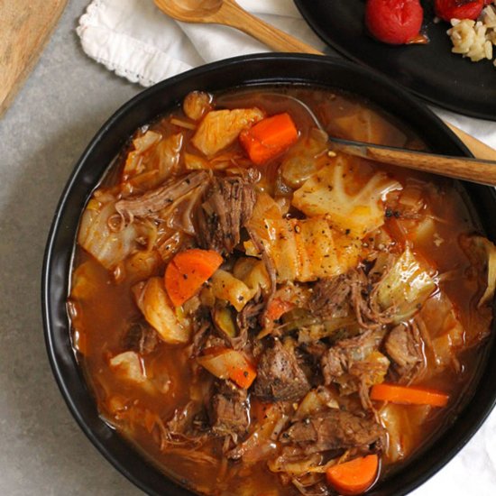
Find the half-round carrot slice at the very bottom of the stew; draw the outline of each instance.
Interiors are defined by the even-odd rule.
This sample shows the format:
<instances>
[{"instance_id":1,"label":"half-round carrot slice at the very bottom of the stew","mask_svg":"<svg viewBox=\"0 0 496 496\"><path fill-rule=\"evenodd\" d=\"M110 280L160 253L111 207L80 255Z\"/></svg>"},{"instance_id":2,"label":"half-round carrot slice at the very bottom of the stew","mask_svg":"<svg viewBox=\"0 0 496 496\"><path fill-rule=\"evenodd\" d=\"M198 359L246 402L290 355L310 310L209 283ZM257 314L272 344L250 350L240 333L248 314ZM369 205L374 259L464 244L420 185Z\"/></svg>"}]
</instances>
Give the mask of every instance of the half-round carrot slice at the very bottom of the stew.
<instances>
[{"instance_id":1,"label":"half-round carrot slice at the very bottom of the stew","mask_svg":"<svg viewBox=\"0 0 496 496\"><path fill-rule=\"evenodd\" d=\"M377 477L379 456L367 455L326 470L327 483L341 494L361 494Z\"/></svg>"}]
</instances>

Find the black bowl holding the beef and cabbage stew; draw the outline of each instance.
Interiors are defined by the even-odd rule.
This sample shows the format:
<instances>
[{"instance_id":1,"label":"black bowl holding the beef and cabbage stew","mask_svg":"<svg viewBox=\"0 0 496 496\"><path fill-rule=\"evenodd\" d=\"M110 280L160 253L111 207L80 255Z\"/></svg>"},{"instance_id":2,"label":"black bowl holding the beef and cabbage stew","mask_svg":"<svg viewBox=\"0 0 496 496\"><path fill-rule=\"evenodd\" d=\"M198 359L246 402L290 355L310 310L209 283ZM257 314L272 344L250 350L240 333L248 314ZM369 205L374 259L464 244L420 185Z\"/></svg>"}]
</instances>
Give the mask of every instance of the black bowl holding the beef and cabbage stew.
<instances>
[{"instance_id":1,"label":"black bowl holding the beef and cabbage stew","mask_svg":"<svg viewBox=\"0 0 496 496\"><path fill-rule=\"evenodd\" d=\"M265 54L238 57L193 69L143 91L125 104L96 133L78 161L60 198L49 235L42 272L42 312L51 367L69 410L106 459L150 494L188 495L161 473L99 417L71 346L66 299L79 216L88 197L124 142L142 124L175 106L189 91L218 91L246 85L303 83L342 88L364 96L409 127L435 152L470 156L455 134L406 91L388 79L351 63L311 55ZM492 188L463 184L488 237L496 239ZM421 455L375 486L370 494L405 494L425 482L470 439L489 415L495 401L496 347L487 347L485 364L473 385L473 398L451 425Z\"/></svg>"}]
</instances>

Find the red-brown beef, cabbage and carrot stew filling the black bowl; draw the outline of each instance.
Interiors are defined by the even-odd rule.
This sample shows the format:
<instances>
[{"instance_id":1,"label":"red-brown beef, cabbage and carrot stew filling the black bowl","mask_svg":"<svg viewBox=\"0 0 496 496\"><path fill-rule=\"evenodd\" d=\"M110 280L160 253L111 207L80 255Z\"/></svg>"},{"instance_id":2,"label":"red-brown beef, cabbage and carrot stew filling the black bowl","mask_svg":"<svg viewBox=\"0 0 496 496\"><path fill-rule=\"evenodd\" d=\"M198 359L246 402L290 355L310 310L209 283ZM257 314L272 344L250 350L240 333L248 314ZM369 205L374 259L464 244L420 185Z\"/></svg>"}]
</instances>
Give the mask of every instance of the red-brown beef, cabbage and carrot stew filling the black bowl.
<instances>
[{"instance_id":1,"label":"red-brown beef, cabbage and carrot stew filling the black bowl","mask_svg":"<svg viewBox=\"0 0 496 496\"><path fill-rule=\"evenodd\" d=\"M477 207L457 181L327 142L436 149L448 132L407 96L410 122L357 90L361 69L286 59L319 76L183 77L80 194L63 327L103 430L82 424L146 460L147 491L163 473L199 494L398 493L432 473L419 454L458 424L440 466L475 427L459 426L490 353L496 253Z\"/></svg>"}]
</instances>

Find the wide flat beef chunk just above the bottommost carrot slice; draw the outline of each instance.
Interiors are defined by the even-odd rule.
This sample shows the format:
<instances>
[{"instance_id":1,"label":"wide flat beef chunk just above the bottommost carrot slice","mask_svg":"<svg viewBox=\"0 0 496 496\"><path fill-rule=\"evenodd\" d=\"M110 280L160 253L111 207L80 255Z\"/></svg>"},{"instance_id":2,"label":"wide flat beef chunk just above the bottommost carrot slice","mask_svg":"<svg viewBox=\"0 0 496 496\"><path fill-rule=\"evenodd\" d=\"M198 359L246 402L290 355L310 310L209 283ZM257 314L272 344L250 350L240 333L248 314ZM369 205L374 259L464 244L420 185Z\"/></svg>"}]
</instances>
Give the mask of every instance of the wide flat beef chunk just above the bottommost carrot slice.
<instances>
[{"instance_id":1,"label":"wide flat beef chunk just above the bottommost carrot slice","mask_svg":"<svg viewBox=\"0 0 496 496\"><path fill-rule=\"evenodd\" d=\"M295 422L279 439L283 444L303 448L306 454L335 449L378 449L384 442L385 429L372 418L329 409Z\"/></svg>"}]
</instances>

